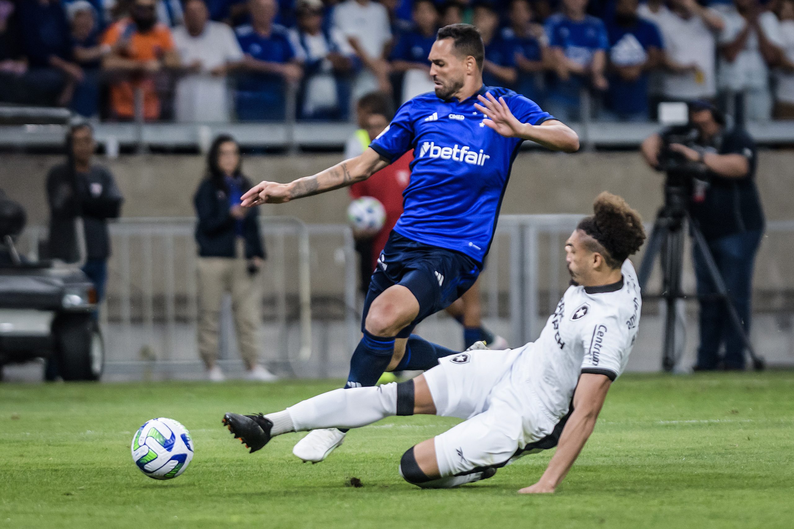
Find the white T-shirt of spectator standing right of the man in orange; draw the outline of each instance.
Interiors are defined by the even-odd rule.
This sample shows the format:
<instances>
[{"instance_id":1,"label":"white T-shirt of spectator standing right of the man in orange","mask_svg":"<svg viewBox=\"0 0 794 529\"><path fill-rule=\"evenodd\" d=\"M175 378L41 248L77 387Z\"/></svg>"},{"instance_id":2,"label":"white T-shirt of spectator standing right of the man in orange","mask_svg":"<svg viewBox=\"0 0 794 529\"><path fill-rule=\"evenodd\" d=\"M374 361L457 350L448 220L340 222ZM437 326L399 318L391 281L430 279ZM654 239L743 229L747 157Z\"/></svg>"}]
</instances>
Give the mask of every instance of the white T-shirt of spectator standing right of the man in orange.
<instances>
[{"instance_id":1,"label":"white T-shirt of spectator standing right of the man in orange","mask_svg":"<svg viewBox=\"0 0 794 529\"><path fill-rule=\"evenodd\" d=\"M211 75L210 71L243 59L233 30L222 22L208 21L199 36L191 36L184 26L175 28L173 35L183 66L201 62L201 71L184 75L176 83L177 121L229 121L226 76Z\"/></svg>"}]
</instances>

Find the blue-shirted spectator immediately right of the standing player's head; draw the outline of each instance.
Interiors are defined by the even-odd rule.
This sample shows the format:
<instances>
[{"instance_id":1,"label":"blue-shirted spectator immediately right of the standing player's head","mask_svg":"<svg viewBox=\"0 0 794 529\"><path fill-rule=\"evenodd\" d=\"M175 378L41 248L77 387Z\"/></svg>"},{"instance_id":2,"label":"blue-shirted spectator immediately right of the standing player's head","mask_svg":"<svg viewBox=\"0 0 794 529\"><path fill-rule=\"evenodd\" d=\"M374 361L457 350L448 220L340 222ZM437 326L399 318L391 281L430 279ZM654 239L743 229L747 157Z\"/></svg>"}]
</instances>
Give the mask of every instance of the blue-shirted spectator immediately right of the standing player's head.
<instances>
[{"instance_id":1,"label":"blue-shirted spectator immediately right of the standing player's head","mask_svg":"<svg viewBox=\"0 0 794 529\"><path fill-rule=\"evenodd\" d=\"M499 35L499 13L491 3L476 4L472 23L480 30L485 44L484 85L512 88L518 79L518 71L515 69L515 45Z\"/></svg>"}]
</instances>

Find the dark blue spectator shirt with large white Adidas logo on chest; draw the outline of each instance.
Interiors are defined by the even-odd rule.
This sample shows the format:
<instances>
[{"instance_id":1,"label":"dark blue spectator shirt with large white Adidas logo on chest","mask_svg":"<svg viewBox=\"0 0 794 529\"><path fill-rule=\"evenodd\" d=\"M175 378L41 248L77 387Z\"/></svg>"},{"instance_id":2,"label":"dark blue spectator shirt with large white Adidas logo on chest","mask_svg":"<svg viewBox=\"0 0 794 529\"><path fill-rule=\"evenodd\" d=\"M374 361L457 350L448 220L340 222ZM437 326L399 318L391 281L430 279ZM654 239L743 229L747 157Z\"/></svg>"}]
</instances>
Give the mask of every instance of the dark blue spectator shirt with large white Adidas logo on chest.
<instances>
[{"instance_id":1,"label":"dark blue spectator shirt with large white Adidas logo on chest","mask_svg":"<svg viewBox=\"0 0 794 529\"><path fill-rule=\"evenodd\" d=\"M659 30L653 22L637 19L637 23L624 27L612 22L607 25L610 59L617 66L634 66L645 63L649 48L662 48ZM609 80L607 96L609 108L621 117L648 113L648 74L636 81L626 81L613 74Z\"/></svg>"}]
</instances>

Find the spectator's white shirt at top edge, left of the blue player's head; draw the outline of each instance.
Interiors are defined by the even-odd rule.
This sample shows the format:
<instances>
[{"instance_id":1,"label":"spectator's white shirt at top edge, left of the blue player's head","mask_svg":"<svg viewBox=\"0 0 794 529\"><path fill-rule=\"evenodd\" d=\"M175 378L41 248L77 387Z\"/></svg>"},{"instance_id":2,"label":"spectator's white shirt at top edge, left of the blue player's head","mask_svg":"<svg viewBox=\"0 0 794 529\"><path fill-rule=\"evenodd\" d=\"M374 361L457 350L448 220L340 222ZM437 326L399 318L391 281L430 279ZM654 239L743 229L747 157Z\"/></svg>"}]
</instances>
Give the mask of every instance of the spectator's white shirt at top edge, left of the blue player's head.
<instances>
[{"instance_id":1,"label":"spectator's white shirt at top edge, left of the blue player's head","mask_svg":"<svg viewBox=\"0 0 794 529\"><path fill-rule=\"evenodd\" d=\"M391 40L389 15L384 6L368 0L362 6L356 0L346 0L333 10L333 27L345 37L354 36L373 59L384 54L384 45Z\"/></svg>"}]
</instances>

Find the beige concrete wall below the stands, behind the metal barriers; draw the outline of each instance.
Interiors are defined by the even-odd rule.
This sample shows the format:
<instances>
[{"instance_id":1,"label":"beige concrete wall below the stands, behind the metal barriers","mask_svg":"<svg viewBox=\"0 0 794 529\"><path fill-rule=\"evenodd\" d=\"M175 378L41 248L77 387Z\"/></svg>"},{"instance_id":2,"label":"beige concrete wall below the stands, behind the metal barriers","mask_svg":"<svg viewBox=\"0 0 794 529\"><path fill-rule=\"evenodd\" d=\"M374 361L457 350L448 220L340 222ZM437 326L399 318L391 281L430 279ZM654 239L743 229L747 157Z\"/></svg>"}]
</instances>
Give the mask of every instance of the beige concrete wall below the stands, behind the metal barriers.
<instances>
[{"instance_id":1,"label":"beige concrete wall below the stands, behind the metal barriers","mask_svg":"<svg viewBox=\"0 0 794 529\"><path fill-rule=\"evenodd\" d=\"M45 224L44 180L49 167L62 158L53 155L0 155L0 187L29 213L29 224ZM337 154L252 155L244 169L252 180L287 182L314 174L340 159ZM204 173L198 155L129 155L98 159L114 172L125 195L125 217L191 217L192 197ZM758 186L769 220L794 219L794 151L762 151ZM649 170L636 152L564 155L522 151L503 202L503 214L588 213L602 190L626 197L646 220L661 204L661 176ZM285 205L265 205L264 215L292 215L307 223L344 223L349 199L346 190ZM335 241L333 244L337 244ZM794 289L794 237L773 236L762 247L757 288ZM541 261L543 263L543 261ZM502 275L501 272L499 274ZM692 285L691 270L687 282ZM323 282L324 283L324 282ZM333 284L334 282L331 282Z\"/></svg>"}]
</instances>

